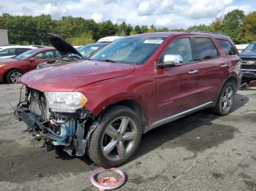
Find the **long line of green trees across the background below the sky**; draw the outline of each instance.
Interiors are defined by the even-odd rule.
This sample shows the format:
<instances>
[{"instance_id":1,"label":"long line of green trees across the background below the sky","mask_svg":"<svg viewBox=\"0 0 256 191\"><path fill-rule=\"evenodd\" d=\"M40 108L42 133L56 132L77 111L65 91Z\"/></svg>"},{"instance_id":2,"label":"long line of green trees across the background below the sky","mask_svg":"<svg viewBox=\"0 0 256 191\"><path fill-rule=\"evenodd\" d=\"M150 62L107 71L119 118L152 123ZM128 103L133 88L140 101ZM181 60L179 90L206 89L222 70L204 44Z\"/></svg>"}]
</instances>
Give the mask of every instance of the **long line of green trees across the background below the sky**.
<instances>
[{"instance_id":1,"label":"long line of green trees across the background below the sky","mask_svg":"<svg viewBox=\"0 0 256 191\"><path fill-rule=\"evenodd\" d=\"M96 23L92 19L65 16L53 19L50 15L14 16L0 15L0 28L8 30L10 44L48 44L46 33L59 34L73 45L88 44L104 36L129 36L148 32L165 31L211 31L230 36L236 44L256 40L256 12L245 15L244 11L234 9L226 15L216 17L211 24L201 24L184 28L157 28L154 25L132 26L125 22L113 23L111 20Z\"/></svg>"}]
</instances>

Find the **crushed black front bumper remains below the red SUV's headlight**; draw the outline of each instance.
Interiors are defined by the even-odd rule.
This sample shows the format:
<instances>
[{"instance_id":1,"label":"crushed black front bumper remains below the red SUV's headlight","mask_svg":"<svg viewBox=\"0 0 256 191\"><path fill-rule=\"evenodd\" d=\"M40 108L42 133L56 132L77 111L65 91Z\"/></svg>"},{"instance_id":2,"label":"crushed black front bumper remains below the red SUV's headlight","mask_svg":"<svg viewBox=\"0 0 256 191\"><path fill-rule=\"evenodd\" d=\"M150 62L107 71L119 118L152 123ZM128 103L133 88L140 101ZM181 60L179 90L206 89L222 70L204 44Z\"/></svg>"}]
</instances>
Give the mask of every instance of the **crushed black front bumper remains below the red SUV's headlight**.
<instances>
[{"instance_id":1,"label":"crushed black front bumper remains below the red SUV's headlight","mask_svg":"<svg viewBox=\"0 0 256 191\"><path fill-rule=\"evenodd\" d=\"M63 141L61 133L58 134L56 130L53 130L54 125L50 120L44 121L41 116L26 108L26 106L17 106L14 114L18 117L18 120L22 120L26 123L28 126L27 131L31 133L32 136L36 136L38 140L43 141L41 145L47 150L51 148L54 141ZM94 120L91 112L86 109L80 109L80 111L75 114L55 113L54 116L66 117L68 120L73 117L75 120L78 120L74 135L67 137L67 139L65 138L66 144L63 144L65 146L64 151L72 155L75 150L75 155L84 155L91 133L98 125L98 122Z\"/></svg>"}]
</instances>

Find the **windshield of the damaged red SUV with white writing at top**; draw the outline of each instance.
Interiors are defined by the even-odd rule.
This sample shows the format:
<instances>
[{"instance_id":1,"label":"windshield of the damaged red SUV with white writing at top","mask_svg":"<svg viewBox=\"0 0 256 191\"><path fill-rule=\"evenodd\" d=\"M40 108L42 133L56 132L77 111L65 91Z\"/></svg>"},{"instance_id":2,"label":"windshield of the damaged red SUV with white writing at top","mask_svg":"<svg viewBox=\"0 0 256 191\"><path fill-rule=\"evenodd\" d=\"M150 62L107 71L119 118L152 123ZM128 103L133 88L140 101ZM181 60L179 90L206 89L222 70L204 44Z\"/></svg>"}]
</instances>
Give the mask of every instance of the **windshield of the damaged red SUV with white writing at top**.
<instances>
[{"instance_id":1,"label":"windshield of the damaged red SUV with white writing at top","mask_svg":"<svg viewBox=\"0 0 256 191\"><path fill-rule=\"evenodd\" d=\"M93 55L91 60L141 64L148 60L164 40L157 37L118 39Z\"/></svg>"}]
</instances>

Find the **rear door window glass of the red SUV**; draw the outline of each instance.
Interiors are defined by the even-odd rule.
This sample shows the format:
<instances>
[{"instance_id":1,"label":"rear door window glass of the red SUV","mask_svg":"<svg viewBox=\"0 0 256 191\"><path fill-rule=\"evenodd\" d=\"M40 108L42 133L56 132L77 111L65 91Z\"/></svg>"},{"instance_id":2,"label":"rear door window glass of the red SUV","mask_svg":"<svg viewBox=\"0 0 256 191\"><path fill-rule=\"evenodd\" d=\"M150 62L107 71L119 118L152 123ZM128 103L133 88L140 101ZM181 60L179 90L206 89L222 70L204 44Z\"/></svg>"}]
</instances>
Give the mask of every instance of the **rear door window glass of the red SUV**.
<instances>
[{"instance_id":1,"label":"rear door window glass of the red SUV","mask_svg":"<svg viewBox=\"0 0 256 191\"><path fill-rule=\"evenodd\" d=\"M218 57L218 52L210 38L194 38L195 61L203 61Z\"/></svg>"}]
</instances>

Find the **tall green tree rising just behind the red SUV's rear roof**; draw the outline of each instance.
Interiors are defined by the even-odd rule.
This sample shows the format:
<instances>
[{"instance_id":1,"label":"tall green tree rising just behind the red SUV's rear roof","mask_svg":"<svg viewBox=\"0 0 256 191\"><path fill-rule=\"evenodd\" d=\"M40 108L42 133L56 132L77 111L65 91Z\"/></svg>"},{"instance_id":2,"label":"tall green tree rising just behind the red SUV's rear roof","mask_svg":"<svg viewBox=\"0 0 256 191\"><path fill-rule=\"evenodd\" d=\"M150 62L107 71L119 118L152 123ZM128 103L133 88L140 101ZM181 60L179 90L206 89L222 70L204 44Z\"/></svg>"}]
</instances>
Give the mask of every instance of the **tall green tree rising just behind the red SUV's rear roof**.
<instances>
[{"instance_id":1,"label":"tall green tree rising just behind the red SUV's rear roof","mask_svg":"<svg viewBox=\"0 0 256 191\"><path fill-rule=\"evenodd\" d=\"M239 36L239 31L244 17L244 11L239 9L228 12L223 18L220 32L230 36L235 43L242 42L243 40Z\"/></svg>"}]
</instances>

